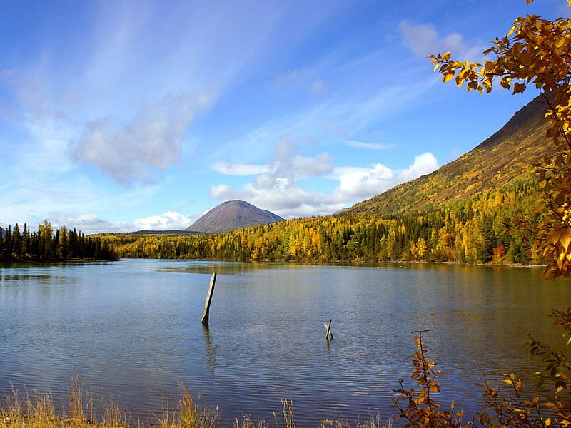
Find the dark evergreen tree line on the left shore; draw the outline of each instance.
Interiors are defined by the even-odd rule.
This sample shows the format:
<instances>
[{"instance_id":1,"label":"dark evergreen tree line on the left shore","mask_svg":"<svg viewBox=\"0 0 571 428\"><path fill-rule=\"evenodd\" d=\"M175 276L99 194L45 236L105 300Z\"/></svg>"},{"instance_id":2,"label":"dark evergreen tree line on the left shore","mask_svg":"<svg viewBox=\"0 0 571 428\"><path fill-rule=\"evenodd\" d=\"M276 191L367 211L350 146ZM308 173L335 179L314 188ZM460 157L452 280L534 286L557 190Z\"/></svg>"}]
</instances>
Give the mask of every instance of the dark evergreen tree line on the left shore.
<instances>
[{"instance_id":1,"label":"dark evergreen tree line on the left shore","mask_svg":"<svg viewBox=\"0 0 571 428\"><path fill-rule=\"evenodd\" d=\"M85 236L76 229L61 226L54 230L48 221L32 232L24 223L0 227L0 260L116 260L108 242L97 236Z\"/></svg>"}]
</instances>

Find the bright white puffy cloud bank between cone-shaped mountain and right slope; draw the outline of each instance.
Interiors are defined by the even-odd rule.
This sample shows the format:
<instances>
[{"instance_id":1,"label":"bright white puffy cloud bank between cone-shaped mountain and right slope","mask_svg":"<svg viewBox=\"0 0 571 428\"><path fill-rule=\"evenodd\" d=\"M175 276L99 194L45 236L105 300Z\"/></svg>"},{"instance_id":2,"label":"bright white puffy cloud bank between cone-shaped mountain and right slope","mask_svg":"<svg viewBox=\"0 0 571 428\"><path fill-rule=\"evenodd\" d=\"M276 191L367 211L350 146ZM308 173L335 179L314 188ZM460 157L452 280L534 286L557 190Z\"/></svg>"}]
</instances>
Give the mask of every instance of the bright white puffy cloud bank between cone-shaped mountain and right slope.
<instances>
[{"instance_id":1,"label":"bright white puffy cloud bank between cone-shaped mountain and right slope","mask_svg":"<svg viewBox=\"0 0 571 428\"><path fill-rule=\"evenodd\" d=\"M333 168L327 153L316 157L300 156L296 153L295 143L283 138L268 171L260 173L253 183L247 183L239 190L227 184L213 185L211 198L246 200L285 218L328 215L436 168L438 162L432 153L416 156L413 164L404 170L392 170L381 163L370 168ZM338 180L339 185L332 193L308 190L298 181L303 176Z\"/></svg>"}]
</instances>

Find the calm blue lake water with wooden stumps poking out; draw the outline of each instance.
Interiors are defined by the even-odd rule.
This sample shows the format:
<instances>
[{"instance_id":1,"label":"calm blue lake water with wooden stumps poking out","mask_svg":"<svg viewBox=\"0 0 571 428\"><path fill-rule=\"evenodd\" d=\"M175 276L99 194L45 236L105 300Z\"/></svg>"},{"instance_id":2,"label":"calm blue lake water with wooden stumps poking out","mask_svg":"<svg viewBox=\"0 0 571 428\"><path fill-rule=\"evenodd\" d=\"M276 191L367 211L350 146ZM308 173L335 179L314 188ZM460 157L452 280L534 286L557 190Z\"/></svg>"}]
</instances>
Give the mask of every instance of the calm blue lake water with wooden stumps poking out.
<instances>
[{"instance_id":1,"label":"calm blue lake water with wooden stumps poking out","mask_svg":"<svg viewBox=\"0 0 571 428\"><path fill-rule=\"evenodd\" d=\"M200 317L218 272L210 327ZM450 265L307 266L121 260L0 267L0 394L65 397L71 377L152 419L178 382L221 417L273 422L281 399L298 424L393 412L408 380L412 330L443 370L443 404L473 412L484 374L530 372L527 333L555 341L545 315L565 282L540 270ZM333 319L335 338L323 322ZM532 370L535 371L535 370ZM412 383L408 382L412 386ZM163 404L161 404L163 403ZM227 423L226 423L227 422Z\"/></svg>"}]
</instances>

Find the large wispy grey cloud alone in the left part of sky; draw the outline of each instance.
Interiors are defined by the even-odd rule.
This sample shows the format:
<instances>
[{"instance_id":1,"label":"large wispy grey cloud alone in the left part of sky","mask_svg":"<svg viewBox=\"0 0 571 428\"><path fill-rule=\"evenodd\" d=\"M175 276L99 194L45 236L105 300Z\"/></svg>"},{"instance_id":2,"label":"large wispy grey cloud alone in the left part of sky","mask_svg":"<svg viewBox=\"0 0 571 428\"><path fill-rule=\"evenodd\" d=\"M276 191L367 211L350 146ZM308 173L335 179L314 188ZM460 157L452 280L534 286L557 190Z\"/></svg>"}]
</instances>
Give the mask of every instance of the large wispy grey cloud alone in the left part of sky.
<instances>
[{"instance_id":1,"label":"large wispy grey cloud alone in the left part of sky","mask_svg":"<svg viewBox=\"0 0 571 428\"><path fill-rule=\"evenodd\" d=\"M141 108L128 123L111 116L91 121L74 146L73 156L95 165L119 184L148 181L154 169L178 162L181 141L195 113L211 106L215 98L214 91L193 96L179 93Z\"/></svg>"}]
</instances>

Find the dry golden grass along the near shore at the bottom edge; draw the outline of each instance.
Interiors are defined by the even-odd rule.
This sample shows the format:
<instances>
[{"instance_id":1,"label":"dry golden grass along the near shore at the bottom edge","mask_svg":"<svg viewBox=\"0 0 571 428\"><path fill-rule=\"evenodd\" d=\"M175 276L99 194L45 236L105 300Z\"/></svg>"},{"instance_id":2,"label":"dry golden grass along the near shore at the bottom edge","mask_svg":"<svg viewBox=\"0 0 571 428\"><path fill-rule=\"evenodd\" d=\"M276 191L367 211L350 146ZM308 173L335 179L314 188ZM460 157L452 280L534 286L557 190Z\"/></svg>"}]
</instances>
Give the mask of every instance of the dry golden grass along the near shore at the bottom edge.
<instances>
[{"instance_id":1,"label":"dry golden grass along the near shore at the bottom edge","mask_svg":"<svg viewBox=\"0 0 571 428\"><path fill-rule=\"evenodd\" d=\"M176 408L165 407L156 415L156 422L148 427L219 428L218 406L208 409L193 400L187 387L181 385L181 388L183 395ZM263 420L253 422L243 416L234 419L233 427L229 428L296 428L293 402L282 400L281 404L281 421L276 414L273 424L269 425ZM323 419L317 428L393 428L391 422L382 424L377 417L351 426L345 419ZM16 389L12 389L11 394L0 399L0 428L133 428L133 424L130 414L117 404L103 399L95 406L91 394L84 390L84 383L76 377L72 380L67 409L59 409L51 394L26 392L21 397ZM134 428L141 428L141 424L137 423Z\"/></svg>"}]
</instances>

